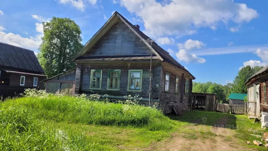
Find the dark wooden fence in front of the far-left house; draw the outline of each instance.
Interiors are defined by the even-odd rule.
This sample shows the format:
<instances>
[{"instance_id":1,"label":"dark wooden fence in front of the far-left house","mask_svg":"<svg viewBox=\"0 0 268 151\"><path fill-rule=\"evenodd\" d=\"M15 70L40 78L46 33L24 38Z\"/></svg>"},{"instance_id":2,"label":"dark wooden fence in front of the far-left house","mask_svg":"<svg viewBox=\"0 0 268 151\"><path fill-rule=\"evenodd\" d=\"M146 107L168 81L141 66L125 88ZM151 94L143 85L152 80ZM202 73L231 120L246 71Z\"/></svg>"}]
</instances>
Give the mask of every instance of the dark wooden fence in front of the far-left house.
<instances>
[{"instance_id":1,"label":"dark wooden fence in front of the far-left house","mask_svg":"<svg viewBox=\"0 0 268 151\"><path fill-rule=\"evenodd\" d=\"M0 97L1 99L5 99L7 97L16 97L28 88L32 89L33 87L0 85Z\"/></svg>"}]
</instances>

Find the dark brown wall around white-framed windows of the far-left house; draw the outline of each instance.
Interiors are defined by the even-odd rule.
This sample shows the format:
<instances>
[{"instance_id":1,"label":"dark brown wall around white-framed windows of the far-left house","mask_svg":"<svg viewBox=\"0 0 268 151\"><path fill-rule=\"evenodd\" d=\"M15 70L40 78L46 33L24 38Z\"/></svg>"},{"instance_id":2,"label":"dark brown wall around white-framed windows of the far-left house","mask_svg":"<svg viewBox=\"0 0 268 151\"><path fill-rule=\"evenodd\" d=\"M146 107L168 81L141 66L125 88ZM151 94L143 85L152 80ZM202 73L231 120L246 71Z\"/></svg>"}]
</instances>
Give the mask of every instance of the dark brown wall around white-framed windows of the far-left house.
<instances>
[{"instance_id":1,"label":"dark brown wall around white-framed windows of the far-left house","mask_svg":"<svg viewBox=\"0 0 268 151\"><path fill-rule=\"evenodd\" d=\"M20 76L25 76L25 87L33 87L33 78L38 76L29 76L29 75L20 75L20 74L11 74L10 75L10 85L11 86L20 86ZM42 80L46 79L46 77L38 77L37 87L40 89L44 89Z\"/></svg>"}]
</instances>

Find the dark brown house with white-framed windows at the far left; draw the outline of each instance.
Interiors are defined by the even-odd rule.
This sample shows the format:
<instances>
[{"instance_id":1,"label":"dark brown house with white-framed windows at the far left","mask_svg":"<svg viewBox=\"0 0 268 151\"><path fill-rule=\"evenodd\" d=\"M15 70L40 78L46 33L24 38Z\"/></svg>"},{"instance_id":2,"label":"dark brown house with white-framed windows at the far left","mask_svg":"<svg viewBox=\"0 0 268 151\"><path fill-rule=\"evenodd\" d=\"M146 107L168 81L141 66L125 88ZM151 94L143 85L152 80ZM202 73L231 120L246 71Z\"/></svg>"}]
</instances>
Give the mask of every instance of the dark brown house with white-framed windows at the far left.
<instances>
[{"instance_id":1,"label":"dark brown house with white-framed windows at the far left","mask_svg":"<svg viewBox=\"0 0 268 151\"><path fill-rule=\"evenodd\" d=\"M40 82L44 79L44 70L33 51L0 42L0 86L44 89Z\"/></svg>"}]
</instances>

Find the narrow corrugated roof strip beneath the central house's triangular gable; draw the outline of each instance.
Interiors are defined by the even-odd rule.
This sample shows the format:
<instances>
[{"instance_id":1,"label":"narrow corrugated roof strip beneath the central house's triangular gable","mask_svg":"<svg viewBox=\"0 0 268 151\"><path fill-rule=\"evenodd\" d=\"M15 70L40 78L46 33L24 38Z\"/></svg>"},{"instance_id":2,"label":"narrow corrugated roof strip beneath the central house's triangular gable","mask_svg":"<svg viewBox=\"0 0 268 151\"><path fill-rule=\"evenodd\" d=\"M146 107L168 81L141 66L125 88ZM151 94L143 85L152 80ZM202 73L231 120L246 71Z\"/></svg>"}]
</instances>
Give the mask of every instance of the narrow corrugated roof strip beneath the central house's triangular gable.
<instances>
[{"instance_id":1,"label":"narrow corrugated roof strip beneath the central house's triangular gable","mask_svg":"<svg viewBox=\"0 0 268 151\"><path fill-rule=\"evenodd\" d=\"M139 55L139 56L83 56L76 60L150 60L151 55ZM157 56L152 56L153 60L159 59Z\"/></svg>"}]
</instances>

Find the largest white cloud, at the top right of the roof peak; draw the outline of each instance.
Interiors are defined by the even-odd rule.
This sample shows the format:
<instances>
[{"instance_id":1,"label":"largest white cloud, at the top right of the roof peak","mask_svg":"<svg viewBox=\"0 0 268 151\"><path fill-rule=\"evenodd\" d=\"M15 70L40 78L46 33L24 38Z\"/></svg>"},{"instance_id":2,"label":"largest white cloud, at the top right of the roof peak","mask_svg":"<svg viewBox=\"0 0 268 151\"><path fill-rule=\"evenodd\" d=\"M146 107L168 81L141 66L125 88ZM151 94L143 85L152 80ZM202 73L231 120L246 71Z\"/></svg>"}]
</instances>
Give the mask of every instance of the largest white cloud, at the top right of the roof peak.
<instances>
[{"instance_id":1,"label":"largest white cloud, at the top right of the roof peak","mask_svg":"<svg viewBox=\"0 0 268 151\"><path fill-rule=\"evenodd\" d=\"M164 4L156 0L113 0L118 1L142 18L146 34L152 37L193 34L200 27L215 30L219 23L241 24L258 17L256 10L233 0L172 0Z\"/></svg>"}]
</instances>

